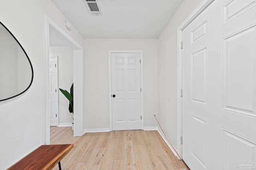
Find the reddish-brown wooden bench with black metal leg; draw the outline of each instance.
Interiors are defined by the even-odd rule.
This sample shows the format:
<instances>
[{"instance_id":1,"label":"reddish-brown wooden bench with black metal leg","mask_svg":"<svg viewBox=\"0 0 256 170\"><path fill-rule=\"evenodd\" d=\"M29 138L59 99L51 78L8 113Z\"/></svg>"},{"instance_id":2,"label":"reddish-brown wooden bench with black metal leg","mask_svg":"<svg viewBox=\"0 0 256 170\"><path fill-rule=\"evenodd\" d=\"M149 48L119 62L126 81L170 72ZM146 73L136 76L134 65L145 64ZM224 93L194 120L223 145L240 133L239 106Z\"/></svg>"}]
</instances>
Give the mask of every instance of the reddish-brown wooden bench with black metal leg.
<instances>
[{"instance_id":1,"label":"reddish-brown wooden bench with black metal leg","mask_svg":"<svg viewBox=\"0 0 256 170\"><path fill-rule=\"evenodd\" d=\"M51 170L74 147L73 144L41 145L7 170Z\"/></svg>"}]
</instances>

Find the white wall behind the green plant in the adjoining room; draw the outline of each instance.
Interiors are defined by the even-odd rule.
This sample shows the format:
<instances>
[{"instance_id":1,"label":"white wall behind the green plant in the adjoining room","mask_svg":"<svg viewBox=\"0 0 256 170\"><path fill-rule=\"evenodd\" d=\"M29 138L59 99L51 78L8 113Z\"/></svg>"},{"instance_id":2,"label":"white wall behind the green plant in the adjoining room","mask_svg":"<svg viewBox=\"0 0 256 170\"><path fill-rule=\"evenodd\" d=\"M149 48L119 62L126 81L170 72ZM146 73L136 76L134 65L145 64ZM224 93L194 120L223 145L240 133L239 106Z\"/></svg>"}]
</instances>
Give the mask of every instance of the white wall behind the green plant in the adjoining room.
<instances>
[{"instance_id":1,"label":"white wall behind the green plant in the adjoining room","mask_svg":"<svg viewBox=\"0 0 256 170\"><path fill-rule=\"evenodd\" d=\"M58 56L58 88L70 92L73 83L73 49L71 47L50 47L50 56ZM59 124L73 123L73 113L69 113L69 102L58 90Z\"/></svg>"}]
</instances>

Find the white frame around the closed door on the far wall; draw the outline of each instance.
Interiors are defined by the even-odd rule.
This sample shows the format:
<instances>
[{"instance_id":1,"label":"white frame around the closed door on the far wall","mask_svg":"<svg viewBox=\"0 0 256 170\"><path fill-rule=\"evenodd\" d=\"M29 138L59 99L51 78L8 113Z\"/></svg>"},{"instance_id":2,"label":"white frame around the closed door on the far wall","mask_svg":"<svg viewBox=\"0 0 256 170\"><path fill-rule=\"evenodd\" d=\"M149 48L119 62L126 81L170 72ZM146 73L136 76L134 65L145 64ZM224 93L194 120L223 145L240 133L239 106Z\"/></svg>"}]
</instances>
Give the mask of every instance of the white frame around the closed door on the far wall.
<instances>
[{"instance_id":1,"label":"white frame around the closed door on the far wall","mask_svg":"<svg viewBox=\"0 0 256 170\"><path fill-rule=\"evenodd\" d=\"M112 83L111 83L111 53L140 53L140 86L141 86L141 129L144 130L144 104L143 104L143 51L142 50L109 50L108 51L108 88L109 88L109 129L112 131Z\"/></svg>"}]
</instances>

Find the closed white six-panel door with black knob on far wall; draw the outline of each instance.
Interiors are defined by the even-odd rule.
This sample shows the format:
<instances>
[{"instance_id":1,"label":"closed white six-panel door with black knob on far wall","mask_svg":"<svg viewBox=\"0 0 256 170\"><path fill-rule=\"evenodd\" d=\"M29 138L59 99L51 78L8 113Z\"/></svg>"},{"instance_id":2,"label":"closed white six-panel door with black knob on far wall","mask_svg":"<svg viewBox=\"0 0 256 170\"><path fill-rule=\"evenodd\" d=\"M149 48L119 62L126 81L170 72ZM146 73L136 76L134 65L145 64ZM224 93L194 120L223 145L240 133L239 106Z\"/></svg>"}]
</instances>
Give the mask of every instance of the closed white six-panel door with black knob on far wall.
<instances>
[{"instance_id":1,"label":"closed white six-panel door with black knob on far wall","mask_svg":"<svg viewBox=\"0 0 256 170\"><path fill-rule=\"evenodd\" d=\"M111 53L112 130L142 129L141 53Z\"/></svg>"}]
</instances>

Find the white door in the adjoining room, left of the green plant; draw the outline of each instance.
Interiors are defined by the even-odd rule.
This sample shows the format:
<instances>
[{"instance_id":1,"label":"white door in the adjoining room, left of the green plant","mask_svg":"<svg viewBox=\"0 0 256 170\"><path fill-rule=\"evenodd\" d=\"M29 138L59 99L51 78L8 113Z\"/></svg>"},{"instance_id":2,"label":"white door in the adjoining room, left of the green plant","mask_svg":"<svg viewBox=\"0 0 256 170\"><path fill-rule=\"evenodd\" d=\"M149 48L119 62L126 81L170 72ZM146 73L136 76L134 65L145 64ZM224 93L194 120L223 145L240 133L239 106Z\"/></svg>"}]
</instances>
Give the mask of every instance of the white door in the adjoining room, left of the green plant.
<instances>
[{"instance_id":1,"label":"white door in the adjoining room, left of the green plant","mask_svg":"<svg viewBox=\"0 0 256 170\"><path fill-rule=\"evenodd\" d=\"M50 57L49 64L49 117L50 126L58 126L58 57Z\"/></svg>"}]
</instances>

